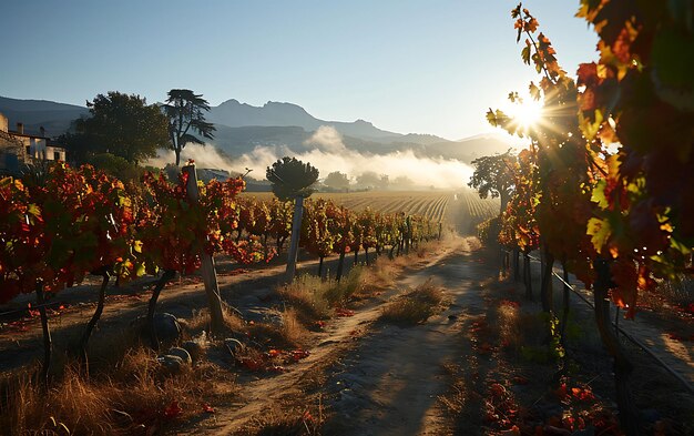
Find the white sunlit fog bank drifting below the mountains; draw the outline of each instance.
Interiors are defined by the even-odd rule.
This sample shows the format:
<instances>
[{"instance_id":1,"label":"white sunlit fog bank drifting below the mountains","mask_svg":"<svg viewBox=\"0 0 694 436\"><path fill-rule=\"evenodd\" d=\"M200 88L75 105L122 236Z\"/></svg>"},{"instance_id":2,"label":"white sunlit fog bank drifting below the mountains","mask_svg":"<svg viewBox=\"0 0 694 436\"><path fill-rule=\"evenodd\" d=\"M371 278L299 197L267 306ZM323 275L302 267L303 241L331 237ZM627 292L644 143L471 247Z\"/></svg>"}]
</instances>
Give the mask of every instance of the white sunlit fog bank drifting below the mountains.
<instances>
[{"instance_id":1,"label":"white sunlit fog bank drifting below the mountains","mask_svg":"<svg viewBox=\"0 0 694 436\"><path fill-rule=\"evenodd\" d=\"M411 150L388 154L360 153L349 150L343 143L335 128L323 125L304 143L303 150L290 150L287 146L258 145L252 153L237 158L227 158L212 145L188 144L183 150L182 162L194 159L200 168L222 169L231 172L243 172L251 169L248 175L256 180L265 179L265 170L283 156L294 156L309 162L320 171L320 179L339 171L355 179L366 172L388 175L390 183L411 181L412 186L459 189L467 184L472 175L470 165L452 159L421 158ZM160 152L150 165L164 166L174 161L173 151ZM407 183L404 183L407 184Z\"/></svg>"}]
</instances>

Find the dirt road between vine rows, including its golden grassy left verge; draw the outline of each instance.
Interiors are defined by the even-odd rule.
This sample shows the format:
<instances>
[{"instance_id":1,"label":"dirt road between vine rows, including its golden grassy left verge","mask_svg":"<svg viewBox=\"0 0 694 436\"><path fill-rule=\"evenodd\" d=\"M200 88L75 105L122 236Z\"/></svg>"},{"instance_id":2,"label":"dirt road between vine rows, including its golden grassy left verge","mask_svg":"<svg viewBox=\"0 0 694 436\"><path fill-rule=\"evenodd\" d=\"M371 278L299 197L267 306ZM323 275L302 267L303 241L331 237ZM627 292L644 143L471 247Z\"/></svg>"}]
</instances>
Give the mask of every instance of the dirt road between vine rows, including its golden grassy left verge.
<instances>
[{"instance_id":1,"label":"dirt road between vine rows, including its golden grassy left verge","mask_svg":"<svg viewBox=\"0 0 694 436\"><path fill-rule=\"evenodd\" d=\"M354 316L333 322L300 364L243 384L235 404L176 434L252 433L254 422L286 414L283 405L297 397L330 412L326 435L449 434L451 423L438 402L450 386L445 365L466 353L460 334L483 314L480 293L496 275L471 244L463 240L442 250ZM412 327L377 321L384 304L429 278L445 290L447 310Z\"/></svg>"}]
</instances>

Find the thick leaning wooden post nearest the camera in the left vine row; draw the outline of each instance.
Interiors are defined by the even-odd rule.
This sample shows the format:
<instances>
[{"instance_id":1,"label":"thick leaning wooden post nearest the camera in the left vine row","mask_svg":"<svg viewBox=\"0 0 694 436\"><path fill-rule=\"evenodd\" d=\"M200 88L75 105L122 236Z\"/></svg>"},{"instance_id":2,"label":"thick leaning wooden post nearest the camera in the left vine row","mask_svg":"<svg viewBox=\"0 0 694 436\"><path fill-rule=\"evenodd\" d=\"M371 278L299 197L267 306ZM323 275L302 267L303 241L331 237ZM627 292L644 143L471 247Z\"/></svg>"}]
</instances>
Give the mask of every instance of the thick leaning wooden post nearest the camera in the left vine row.
<instances>
[{"instance_id":1,"label":"thick leaning wooden post nearest the camera in the left vine row","mask_svg":"<svg viewBox=\"0 0 694 436\"><path fill-rule=\"evenodd\" d=\"M187 174L186 192L191 205L195 206L200 202L200 190L197 189L197 174L195 164L184 165L182 171ZM222 297L220 296L220 285L217 284L217 273L214 266L214 257L201 249L201 274L207 294L210 306L210 328L213 334L218 334L224 328L224 313L222 311Z\"/></svg>"}]
</instances>

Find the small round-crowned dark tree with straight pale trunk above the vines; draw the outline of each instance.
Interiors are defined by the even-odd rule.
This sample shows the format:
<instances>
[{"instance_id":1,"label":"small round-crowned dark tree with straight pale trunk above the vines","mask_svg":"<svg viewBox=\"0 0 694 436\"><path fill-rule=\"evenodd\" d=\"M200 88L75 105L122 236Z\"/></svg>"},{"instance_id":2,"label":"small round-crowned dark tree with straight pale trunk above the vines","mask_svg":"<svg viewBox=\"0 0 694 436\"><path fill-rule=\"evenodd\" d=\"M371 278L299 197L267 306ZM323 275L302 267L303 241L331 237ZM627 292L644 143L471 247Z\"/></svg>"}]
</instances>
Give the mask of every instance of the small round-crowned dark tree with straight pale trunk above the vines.
<instances>
[{"instance_id":1,"label":"small round-crowned dark tree with straight pale trunk above the vines","mask_svg":"<svg viewBox=\"0 0 694 436\"><path fill-rule=\"evenodd\" d=\"M294 222L292 223L292 242L287 260L287 281L294 280L296 272L296 254L298 252L299 233L304 199L313 193L312 185L318 180L318 170L296 158L285 156L267 168L267 180L273 184L273 192L282 201L295 199Z\"/></svg>"}]
</instances>

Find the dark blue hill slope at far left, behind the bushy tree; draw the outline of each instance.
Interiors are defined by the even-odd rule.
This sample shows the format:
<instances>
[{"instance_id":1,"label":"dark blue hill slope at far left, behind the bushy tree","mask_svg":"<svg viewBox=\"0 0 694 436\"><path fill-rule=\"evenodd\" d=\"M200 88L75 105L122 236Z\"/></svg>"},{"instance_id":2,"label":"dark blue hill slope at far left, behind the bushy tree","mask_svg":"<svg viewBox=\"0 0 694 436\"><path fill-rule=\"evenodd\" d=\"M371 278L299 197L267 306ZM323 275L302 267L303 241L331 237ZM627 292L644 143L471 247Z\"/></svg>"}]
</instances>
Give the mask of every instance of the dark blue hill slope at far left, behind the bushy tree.
<instances>
[{"instance_id":1,"label":"dark blue hill slope at far left, behind the bushy tree","mask_svg":"<svg viewBox=\"0 0 694 436\"><path fill-rule=\"evenodd\" d=\"M64 133L73 120L89 114L86 108L74 104L7 97L0 97L0 112L8 118L10 129L14 130L17 123L23 123L24 132L39 134L40 128L43 126L48 136Z\"/></svg>"}]
</instances>

